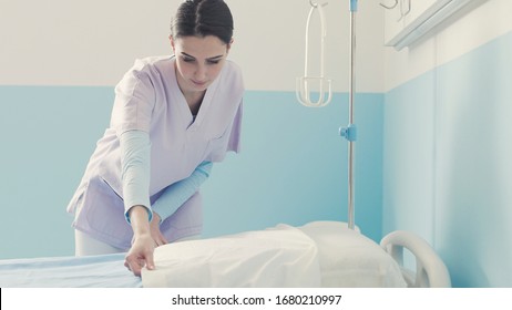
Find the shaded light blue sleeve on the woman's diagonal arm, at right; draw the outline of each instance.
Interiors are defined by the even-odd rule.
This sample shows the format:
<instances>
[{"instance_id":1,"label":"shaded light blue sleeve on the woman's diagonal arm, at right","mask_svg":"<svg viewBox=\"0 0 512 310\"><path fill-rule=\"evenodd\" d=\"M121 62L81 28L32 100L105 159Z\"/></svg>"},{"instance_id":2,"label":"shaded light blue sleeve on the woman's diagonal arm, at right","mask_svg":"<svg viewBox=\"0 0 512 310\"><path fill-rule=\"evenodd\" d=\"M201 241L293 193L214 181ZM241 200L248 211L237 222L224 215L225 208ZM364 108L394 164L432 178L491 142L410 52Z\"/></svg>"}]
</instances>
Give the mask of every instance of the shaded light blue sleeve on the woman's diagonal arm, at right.
<instances>
[{"instance_id":1,"label":"shaded light blue sleeve on the woman's diagonal arm, at right","mask_svg":"<svg viewBox=\"0 0 512 310\"><path fill-rule=\"evenodd\" d=\"M203 162L190 177L176 182L164 189L162 196L152 206L162 221L172 216L199 189L201 185L209 177L212 166L211 162Z\"/></svg>"}]
</instances>

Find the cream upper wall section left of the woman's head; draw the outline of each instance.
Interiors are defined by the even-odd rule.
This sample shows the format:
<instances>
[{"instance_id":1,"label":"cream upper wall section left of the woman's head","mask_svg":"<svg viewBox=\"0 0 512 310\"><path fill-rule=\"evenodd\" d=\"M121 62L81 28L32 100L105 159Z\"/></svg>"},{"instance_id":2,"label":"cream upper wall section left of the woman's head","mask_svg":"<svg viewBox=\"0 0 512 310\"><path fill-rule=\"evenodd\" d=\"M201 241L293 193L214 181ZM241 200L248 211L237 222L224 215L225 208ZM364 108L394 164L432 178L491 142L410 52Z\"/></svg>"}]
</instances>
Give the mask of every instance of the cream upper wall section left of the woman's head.
<instances>
[{"instance_id":1,"label":"cream upper wall section left of the woman's head","mask_svg":"<svg viewBox=\"0 0 512 310\"><path fill-rule=\"evenodd\" d=\"M168 53L177 2L0 0L0 84L114 85L135 58Z\"/></svg>"}]
</instances>

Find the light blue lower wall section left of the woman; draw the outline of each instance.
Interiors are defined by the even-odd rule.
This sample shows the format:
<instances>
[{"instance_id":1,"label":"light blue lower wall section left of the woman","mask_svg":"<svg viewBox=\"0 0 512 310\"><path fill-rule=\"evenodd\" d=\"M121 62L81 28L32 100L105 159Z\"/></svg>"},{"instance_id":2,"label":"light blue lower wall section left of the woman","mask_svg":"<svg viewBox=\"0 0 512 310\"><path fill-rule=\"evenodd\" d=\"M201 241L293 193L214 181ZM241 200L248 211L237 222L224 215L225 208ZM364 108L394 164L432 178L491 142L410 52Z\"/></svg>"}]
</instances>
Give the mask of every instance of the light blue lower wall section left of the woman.
<instances>
[{"instance_id":1,"label":"light blue lower wall section left of the woman","mask_svg":"<svg viewBox=\"0 0 512 310\"><path fill-rule=\"evenodd\" d=\"M74 252L65 206L112 101L110 87L0 87L1 258Z\"/></svg>"}]
</instances>

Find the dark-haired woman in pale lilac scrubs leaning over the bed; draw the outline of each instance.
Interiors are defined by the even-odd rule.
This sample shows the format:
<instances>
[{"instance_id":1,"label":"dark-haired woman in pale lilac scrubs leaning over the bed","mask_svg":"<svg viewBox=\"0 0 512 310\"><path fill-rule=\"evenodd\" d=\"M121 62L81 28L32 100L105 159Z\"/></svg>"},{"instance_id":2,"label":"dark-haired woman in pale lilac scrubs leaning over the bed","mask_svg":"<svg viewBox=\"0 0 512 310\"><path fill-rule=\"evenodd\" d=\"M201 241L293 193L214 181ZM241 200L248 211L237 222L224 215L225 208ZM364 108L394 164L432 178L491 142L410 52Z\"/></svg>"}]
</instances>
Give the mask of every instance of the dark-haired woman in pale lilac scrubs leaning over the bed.
<instances>
[{"instance_id":1,"label":"dark-haired woman in pale lilac scrubs leaning over the bed","mask_svg":"<svg viewBox=\"0 0 512 310\"><path fill-rule=\"evenodd\" d=\"M197 238L201 185L239 151L243 80L227 60L233 17L223 0L187 0L172 20L173 56L135 61L115 86L109 128L68 211L75 255L126 252L140 276L154 248Z\"/></svg>"}]
</instances>

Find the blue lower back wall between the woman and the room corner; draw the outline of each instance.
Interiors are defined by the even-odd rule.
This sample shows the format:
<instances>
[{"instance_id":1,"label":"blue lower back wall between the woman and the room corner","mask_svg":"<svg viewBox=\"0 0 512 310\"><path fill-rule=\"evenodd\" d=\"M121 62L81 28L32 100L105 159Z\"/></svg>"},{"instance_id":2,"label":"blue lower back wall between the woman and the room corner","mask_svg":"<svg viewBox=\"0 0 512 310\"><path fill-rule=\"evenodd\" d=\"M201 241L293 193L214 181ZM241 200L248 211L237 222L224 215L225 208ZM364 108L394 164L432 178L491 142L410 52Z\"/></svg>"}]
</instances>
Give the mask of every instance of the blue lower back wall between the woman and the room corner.
<instances>
[{"instance_id":1,"label":"blue lower back wall between the woman and the room corner","mask_svg":"<svg viewBox=\"0 0 512 310\"><path fill-rule=\"evenodd\" d=\"M248 92L243 151L215 167L204 190L212 198L206 232L347 220L348 151L338 135L339 126L348 122L347 99L336 94L330 105L307 108L297 103L295 93ZM376 240L381 237L382 99L361 94L356 112L360 128L356 224ZM232 217L228 225L217 225L226 217Z\"/></svg>"}]
</instances>

